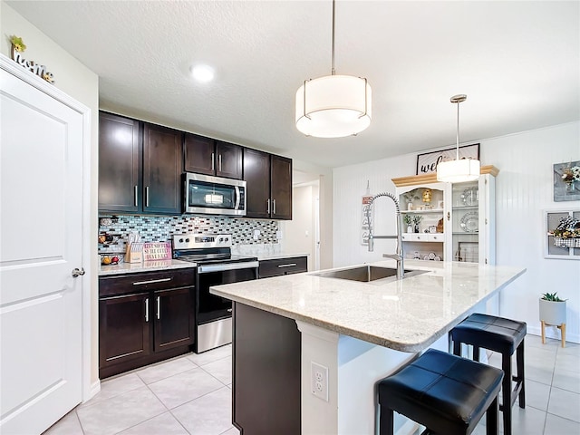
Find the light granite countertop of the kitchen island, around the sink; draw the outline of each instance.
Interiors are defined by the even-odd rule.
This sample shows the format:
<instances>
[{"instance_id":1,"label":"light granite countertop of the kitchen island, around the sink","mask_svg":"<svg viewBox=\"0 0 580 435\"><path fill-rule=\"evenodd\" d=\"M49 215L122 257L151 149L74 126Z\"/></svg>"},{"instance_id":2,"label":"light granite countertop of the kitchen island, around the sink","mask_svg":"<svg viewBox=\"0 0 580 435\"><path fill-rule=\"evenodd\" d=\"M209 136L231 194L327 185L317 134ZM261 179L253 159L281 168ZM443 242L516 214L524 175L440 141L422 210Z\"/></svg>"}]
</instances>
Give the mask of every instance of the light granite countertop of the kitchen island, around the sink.
<instances>
[{"instance_id":1,"label":"light granite countertop of the kitchen island, around the sink","mask_svg":"<svg viewBox=\"0 0 580 435\"><path fill-rule=\"evenodd\" d=\"M372 265L392 267L394 261ZM218 285L210 293L369 343L419 352L448 333L476 304L526 271L523 267L416 260L405 261L405 269L428 272L371 283L310 272Z\"/></svg>"}]
</instances>

